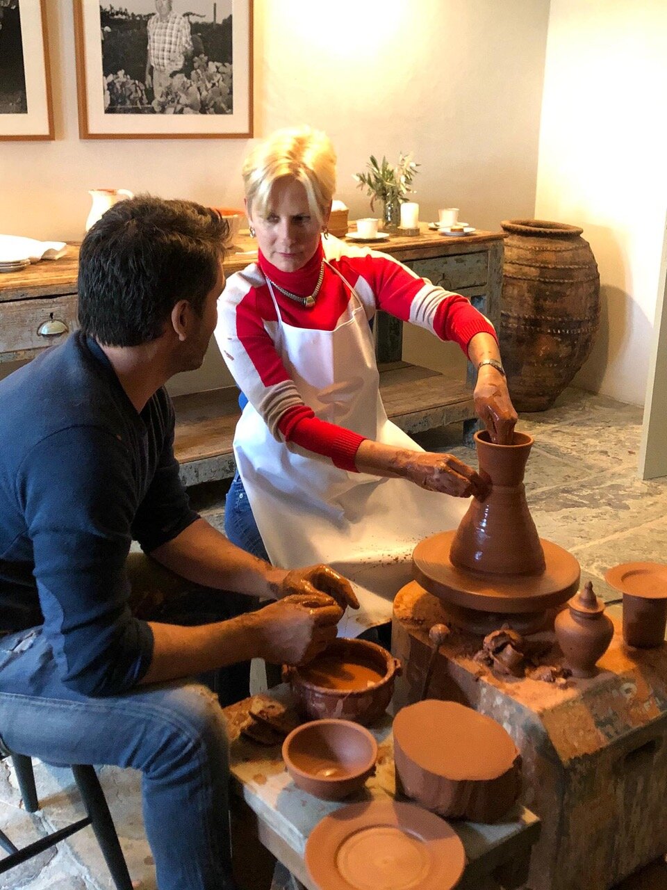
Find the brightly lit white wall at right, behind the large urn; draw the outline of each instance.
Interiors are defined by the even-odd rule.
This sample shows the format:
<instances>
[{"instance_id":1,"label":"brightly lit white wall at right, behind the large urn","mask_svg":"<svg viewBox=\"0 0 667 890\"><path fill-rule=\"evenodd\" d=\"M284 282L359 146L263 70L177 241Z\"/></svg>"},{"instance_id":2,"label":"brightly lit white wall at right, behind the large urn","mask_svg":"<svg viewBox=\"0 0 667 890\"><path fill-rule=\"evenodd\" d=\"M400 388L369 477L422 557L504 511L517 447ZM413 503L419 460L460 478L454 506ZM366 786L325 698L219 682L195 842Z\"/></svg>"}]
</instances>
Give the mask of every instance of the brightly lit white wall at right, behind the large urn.
<instances>
[{"instance_id":1,"label":"brightly lit white wall at right, behind the large urn","mask_svg":"<svg viewBox=\"0 0 667 890\"><path fill-rule=\"evenodd\" d=\"M551 0L537 218L583 227L602 320L575 383L641 404L667 209L667 4Z\"/></svg>"}]
</instances>

